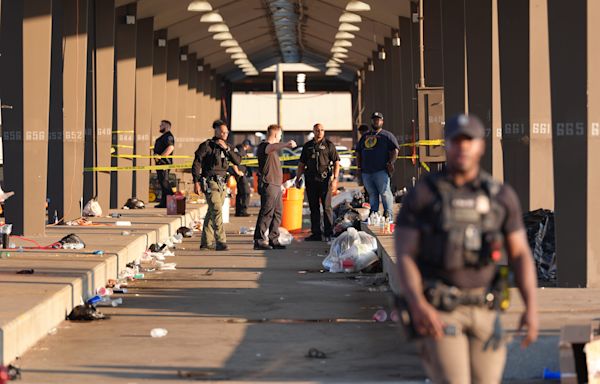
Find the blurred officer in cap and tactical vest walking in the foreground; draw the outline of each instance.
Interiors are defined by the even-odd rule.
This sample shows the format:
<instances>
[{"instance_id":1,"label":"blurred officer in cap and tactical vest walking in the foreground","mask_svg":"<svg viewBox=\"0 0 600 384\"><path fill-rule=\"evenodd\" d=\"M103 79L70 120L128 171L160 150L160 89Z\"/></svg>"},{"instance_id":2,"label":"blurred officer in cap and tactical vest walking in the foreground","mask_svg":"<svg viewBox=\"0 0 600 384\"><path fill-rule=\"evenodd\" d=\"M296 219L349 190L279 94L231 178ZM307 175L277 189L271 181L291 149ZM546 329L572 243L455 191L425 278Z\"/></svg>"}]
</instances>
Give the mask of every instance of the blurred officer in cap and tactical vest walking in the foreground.
<instances>
[{"instance_id":1,"label":"blurred officer in cap and tactical vest walking in the foreground","mask_svg":"<svg viewBox=\"0 0 600 384\"><path fill-rule=\"evenodd\" d=\"M400 288L435 383L500 383L506 346L498 308L508 305L500 260L508 259L525 303L522 346L537 338L536 274L519 200L480 169L484 136L474 116L447 121L447 169L409 192L396 224Z\"/></svg>"}]
</instances>

